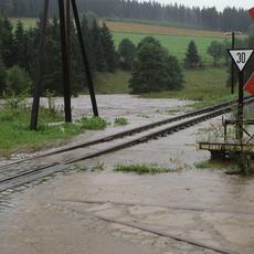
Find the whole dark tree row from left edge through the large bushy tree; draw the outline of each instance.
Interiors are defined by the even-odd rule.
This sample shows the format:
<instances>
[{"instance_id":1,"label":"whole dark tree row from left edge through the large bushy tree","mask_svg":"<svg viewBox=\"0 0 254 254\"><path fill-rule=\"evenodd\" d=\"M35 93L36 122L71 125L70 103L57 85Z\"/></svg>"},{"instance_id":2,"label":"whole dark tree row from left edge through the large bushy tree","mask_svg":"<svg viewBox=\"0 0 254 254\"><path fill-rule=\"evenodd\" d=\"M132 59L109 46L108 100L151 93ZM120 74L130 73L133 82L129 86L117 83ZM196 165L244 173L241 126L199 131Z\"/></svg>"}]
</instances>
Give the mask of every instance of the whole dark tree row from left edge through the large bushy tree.
<instances>
[{"instance_id":1,"label":"whole dark tree row from left edge through the large bushy tree","mask_svg":"<svg viewBox=\"0 0 254 254\"><path fill-rule=\"evenodd\" d=\"M0 96L30 93L34 87L39 52L40 21L35 28L24 29L18 21L13 27L8 18L0 17ZM94 13L82 18L82 31L92 74L114 73L118 68L131 72L129 87L133 93L182 88L181 66L174 56L154 38L145 38L138 45L124 39L116 49L113 35L105 23L99 23ZM80 44L75 25L71 23L71 83L72 94L84 91ZM61 34L59 19L50 20L43 68L44 94L63 94Z\"/></svg>"}]
</instances>

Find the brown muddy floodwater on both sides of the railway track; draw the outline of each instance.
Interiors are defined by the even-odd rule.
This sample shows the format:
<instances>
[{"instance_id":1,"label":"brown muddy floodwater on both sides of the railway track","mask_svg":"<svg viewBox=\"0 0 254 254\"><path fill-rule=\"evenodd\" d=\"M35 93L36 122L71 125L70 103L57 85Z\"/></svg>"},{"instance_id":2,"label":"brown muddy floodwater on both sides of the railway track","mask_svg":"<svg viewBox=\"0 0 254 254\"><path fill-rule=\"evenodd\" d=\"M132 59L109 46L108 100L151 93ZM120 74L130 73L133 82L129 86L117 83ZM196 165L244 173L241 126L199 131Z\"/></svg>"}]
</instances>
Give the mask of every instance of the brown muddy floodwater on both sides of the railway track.
<instances>
[{"instance_id":1,"label":"brown muddy floodwater on both sides of the railway track","mask_svg":"<svg viewBox=\"0 0 254 254\"><path fill-rule=\"evenodd\" d=\"M91 114L88 97L74 100L75 116ZM126 117L129 125L80 139L182 114L187 105L103 95L100 115L108 120ZM254 178L225 174L220 165L197 167L210 159L209 152L197 150L199 131L219 123L221 117L2 193L0 253L253 254ZM156 163L171 171L141 176L114 171L116 165L134 163Z\"/></svg>"}]
</instances>

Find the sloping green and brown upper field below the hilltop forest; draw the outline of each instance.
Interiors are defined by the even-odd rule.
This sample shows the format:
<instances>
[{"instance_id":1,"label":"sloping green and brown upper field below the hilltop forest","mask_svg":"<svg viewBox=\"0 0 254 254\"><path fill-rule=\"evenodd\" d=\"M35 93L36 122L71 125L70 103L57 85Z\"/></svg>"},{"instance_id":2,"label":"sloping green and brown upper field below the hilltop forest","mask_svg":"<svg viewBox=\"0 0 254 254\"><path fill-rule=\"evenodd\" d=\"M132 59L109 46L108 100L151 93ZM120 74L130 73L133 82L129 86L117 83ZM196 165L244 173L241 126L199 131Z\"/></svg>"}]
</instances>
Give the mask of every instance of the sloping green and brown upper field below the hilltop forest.
<instances>
[{"instance_id":1,"label":"sloping green and brown upper field below the hilltop forest","mask_svg":"<svg viewBox=\"0 0 254 254\"><path fill-rule=\"evenodd\" d=\"M34 27L36 23L36 19L22 18L21 20L25 28ZM18 19L12 19L12 21L15 23ZM214 40L223 41L226 39L224 33L205 30L113 21L106 21L106 24L113 32L116 46L125 38L138 44L142 38L151 35L180 61L184 59L188 44L193 40L204 64L212 63L212 57L207 53L210 43Z\"/></svg>"}]
</instances>

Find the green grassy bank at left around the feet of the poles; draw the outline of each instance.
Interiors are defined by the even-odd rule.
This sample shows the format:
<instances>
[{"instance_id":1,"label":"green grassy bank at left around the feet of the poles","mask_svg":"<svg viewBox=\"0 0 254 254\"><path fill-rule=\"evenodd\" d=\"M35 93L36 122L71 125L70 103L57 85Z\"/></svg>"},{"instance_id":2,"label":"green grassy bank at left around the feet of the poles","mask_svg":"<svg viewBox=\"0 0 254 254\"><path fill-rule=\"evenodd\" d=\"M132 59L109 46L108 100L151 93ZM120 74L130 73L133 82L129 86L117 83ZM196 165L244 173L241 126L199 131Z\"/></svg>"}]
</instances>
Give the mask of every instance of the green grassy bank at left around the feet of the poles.
<instances>
[{"instance_id":1,"label":"green grassy bank at left around the feet of the poles","mask_svg":"<svg viewBox=\"0 0 254 254\"><path fill-rule=\"evenodd\" d=\"M104 129L107 123L102 118L83 118L74 124L63 124L59 110L40 109L36 131L29 129L31 108L22 105L1 106L0 110L0 157L22 151L36 151L61 145L85 129Z\"/></svg>"}]
</instances>

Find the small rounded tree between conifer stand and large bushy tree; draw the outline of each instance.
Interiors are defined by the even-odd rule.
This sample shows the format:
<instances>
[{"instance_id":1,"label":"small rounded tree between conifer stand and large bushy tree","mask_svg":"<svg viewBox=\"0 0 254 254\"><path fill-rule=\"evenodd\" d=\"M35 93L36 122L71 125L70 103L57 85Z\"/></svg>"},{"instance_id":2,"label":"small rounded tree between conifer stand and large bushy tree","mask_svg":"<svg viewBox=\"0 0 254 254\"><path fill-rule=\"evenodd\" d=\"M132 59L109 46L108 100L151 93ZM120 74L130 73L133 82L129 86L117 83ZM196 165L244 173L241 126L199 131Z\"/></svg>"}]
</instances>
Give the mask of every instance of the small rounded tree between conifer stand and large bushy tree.
<instances>
[{"instance_id":1,"label":"small rounded tree between conifer stand and large bushy tree","mask_svg":"<svg viewBox=\"0 0 254 254\"><path fill-rule=\"evenodd\" d=\"M123 39L118 46L118 54L121 67L130 71L137 54L136 45L129 39Z\"/></svg>"}]
</instances>

